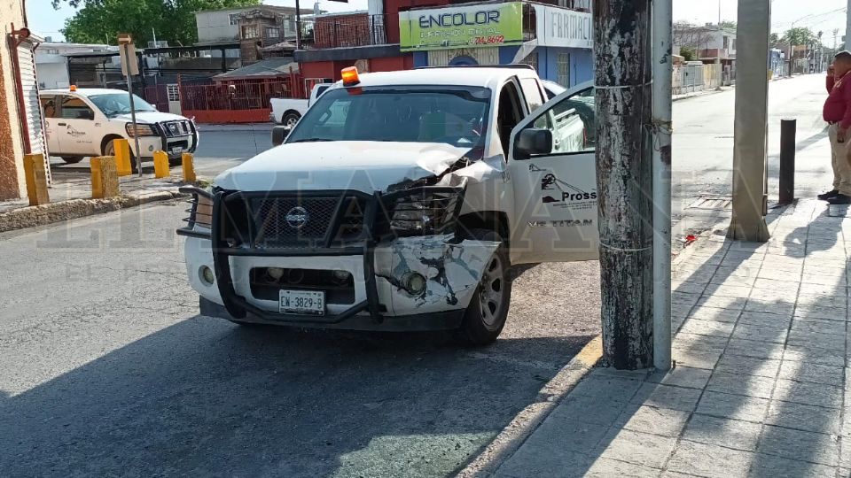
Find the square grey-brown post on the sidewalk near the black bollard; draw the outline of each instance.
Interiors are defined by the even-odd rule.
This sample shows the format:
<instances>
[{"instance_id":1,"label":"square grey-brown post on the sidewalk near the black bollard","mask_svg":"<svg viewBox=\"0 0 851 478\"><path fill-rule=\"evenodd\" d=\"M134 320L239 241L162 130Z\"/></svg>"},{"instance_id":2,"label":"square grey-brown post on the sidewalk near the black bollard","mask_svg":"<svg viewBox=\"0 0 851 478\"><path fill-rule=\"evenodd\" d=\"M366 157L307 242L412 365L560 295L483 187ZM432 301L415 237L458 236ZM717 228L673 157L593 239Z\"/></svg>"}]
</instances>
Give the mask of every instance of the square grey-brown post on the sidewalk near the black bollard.
<instances>
[{"instance_id":1,"label":"square grey-brown post on the sidewalk near the black bollard","mask_svg":"<svg viewBox=\"0 0 851 478\"><path fill-rule=\"evenodd\" d=\"M733 218L728 237L760 243L769 240L765 223L769 115L765 58L769 55L770 19L768 0L738 0Z\"/></svg>"}]
</instances>

